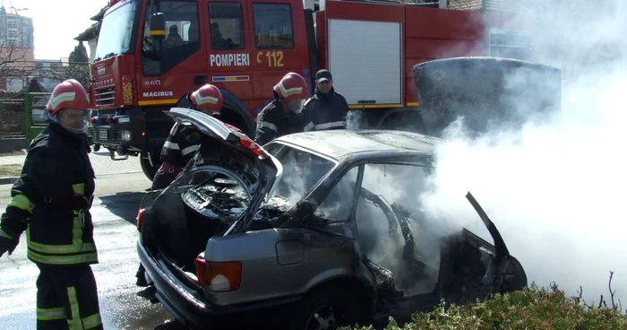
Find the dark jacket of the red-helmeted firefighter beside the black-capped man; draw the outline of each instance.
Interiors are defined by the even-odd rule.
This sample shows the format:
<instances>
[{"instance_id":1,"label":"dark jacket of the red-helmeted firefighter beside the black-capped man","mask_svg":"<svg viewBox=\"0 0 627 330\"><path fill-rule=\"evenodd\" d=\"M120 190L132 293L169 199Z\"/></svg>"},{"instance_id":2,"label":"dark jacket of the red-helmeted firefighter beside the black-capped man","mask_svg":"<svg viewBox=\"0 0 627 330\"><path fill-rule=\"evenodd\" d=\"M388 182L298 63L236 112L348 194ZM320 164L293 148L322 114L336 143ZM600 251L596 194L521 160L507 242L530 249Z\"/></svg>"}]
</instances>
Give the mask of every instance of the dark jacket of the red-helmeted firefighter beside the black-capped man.
<instances>
[{"instance_id":1,"label":"dark jacket of the red-helmeted firefighter beside the black-capped man","mask_svg":"<svg viewBox=\"0 0 627 330\"><path fill-rule=\"evenodd\" d=\"M280 136L306 132L313 127L314 124L305 114L305 109L300 114L295 114L283 109L278 100L273 100L257 115L257 132L254 141L263 145Z\"/></svg>"}]
</instances>

